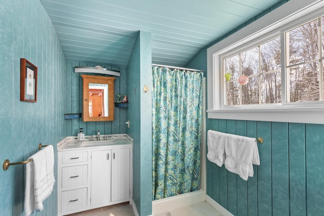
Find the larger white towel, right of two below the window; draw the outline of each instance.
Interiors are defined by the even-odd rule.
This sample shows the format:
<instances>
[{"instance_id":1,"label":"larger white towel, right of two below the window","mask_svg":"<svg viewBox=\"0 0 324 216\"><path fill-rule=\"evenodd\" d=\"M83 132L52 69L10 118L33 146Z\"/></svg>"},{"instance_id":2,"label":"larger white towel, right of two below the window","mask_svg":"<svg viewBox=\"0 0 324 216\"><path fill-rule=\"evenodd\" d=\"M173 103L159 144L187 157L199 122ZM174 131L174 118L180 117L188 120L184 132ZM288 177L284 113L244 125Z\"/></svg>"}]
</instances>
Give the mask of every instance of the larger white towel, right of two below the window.
<instances>
[{"instance_id":1,"label":"larger white towel, right of two below the window","mask_svg":"<svg viewBox=\"0 0 324 216\"><path fill-rule=\"evenodd\" d=\"M255 138L229 134L225 143L225 167L245 181L253 177L253 165L260 165L258 145Z\"/></svg>"}]
</instances>

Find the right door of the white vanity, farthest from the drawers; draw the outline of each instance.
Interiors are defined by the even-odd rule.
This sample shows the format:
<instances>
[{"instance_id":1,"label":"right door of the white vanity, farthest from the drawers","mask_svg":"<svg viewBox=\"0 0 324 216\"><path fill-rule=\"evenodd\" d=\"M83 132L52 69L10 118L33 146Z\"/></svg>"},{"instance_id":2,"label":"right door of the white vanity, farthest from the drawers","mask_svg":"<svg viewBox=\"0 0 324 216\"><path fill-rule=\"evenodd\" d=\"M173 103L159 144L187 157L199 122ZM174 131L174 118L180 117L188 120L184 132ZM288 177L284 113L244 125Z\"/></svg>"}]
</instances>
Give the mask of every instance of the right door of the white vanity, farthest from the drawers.
<instances>
[{"instance_id":1,"label":"right door of the white vanity, farthest from the drawers","mask_svg":"<svg viewBox=\"0 0 324 216\"><path fill-rule=\"evenodd\" d=\"M130 148L111 151L111 201L130 197Z\"/></svg>"}]
</instances>

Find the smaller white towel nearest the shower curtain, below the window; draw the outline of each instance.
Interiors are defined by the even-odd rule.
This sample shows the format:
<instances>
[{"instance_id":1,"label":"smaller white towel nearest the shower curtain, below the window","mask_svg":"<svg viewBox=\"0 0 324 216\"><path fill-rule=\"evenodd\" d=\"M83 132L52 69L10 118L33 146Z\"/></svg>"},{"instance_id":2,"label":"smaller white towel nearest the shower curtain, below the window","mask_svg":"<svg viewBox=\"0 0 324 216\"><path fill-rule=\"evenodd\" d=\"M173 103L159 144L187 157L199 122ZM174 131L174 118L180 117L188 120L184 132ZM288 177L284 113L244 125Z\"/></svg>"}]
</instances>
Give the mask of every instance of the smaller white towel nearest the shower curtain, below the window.
<instances>
[{"instance_id":1,"label":"smaller white towel nearest the shower curtain, below the window","mask_svg":"<svg viewBox=\"0 0 324 216\"><path fill-rule=\"evenodd\" d=\"M227 134L220 133L217 131L209 130L207 132L207 146L208 153L207 158L216 163L219 166L222 166L225 162L225 142Z\"/></svg>"}]
</instances>

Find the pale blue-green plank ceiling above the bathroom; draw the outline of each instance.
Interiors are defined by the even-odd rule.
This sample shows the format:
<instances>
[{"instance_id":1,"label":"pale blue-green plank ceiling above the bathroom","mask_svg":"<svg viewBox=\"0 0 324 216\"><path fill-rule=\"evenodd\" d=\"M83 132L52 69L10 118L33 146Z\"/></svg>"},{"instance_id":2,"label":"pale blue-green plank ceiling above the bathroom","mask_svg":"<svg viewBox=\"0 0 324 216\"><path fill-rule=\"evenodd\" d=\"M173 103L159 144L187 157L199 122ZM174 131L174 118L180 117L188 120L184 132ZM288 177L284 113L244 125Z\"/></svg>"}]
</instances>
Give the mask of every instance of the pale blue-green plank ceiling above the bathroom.
<instances>
[{"instance_id":1,"label":"pale blue-green plank ceiling above the bathroom","mask_svg":"<svg viewBox=\"0 0 324 216\"><path fill-rule=\"evenodd\" d=\"M153 64L183 67L201 49L282 0L41 2L67 61L127 67L141 30L152 35Z\"/></svg>"}]
</instances>

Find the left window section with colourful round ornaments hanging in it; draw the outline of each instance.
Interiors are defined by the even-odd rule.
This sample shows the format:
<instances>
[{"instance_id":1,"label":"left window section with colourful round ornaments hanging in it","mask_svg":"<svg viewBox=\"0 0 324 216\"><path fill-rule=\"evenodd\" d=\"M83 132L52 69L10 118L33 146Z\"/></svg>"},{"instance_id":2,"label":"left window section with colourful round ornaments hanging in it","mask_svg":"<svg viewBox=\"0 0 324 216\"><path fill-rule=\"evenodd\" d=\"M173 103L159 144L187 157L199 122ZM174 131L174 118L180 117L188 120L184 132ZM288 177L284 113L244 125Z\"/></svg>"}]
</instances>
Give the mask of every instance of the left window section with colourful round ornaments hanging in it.
<instances>
[{"instance_id":1,"label":"left window section with colourful round ornaments hanging in it","mask_svg":"<svg viewBox=\"0 0 324 216\"><path fill-rule=\"evenodd\" d=\"M280 38L224 58L226 105L281 103ZM247 83L240 84L239 78Z\"/></svg>"}]
</instances>

